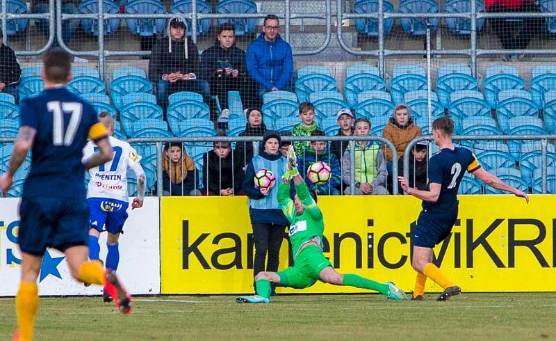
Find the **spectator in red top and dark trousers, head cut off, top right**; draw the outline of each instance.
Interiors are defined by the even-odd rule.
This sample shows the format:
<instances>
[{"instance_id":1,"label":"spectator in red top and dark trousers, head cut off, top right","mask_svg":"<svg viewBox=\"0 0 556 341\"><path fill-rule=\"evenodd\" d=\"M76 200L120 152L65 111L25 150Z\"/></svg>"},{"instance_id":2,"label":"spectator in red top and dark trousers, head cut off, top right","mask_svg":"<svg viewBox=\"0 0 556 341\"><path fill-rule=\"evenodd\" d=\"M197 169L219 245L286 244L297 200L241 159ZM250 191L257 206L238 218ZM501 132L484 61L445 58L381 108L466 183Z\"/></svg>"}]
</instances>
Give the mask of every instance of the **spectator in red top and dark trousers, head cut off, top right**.
<instances>
[{"instance_id":1,"label":"spectator in red top and dark trousers, head cut off, top right","mask_svg":"<svg viewBox=\"0 0 556 341\"><path fill-rule=\"evenodd\" d=\"M535 0L486 0L487 13L540 12ZM541 31L544 18L497 17L489 18L503 49L526 49L534 34ZM502 54L503 61L521 61L523 54Z\"/></svg>"}]
</instances>

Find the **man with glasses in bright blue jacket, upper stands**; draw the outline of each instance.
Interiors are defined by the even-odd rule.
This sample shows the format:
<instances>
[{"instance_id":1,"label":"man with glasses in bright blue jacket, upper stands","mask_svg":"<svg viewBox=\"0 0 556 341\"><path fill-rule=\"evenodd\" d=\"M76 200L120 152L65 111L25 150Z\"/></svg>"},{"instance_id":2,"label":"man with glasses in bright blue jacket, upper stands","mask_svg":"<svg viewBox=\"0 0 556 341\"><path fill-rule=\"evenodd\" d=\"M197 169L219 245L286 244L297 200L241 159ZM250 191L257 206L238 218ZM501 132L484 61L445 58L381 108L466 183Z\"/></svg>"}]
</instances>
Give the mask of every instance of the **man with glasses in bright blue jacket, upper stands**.
<instances>
[{"instance_id":1,"label":"man with glasses in bright blue jacket, upper stands","mask_svg":"<svg viewBox=\"0 0 556 341\"><path fill-rule=\"evenodd\" d=\"M256 83L260 100L268 91L291 91L293 56L291 46L282 40L276 15L267 15L263 32L247 47L247 71Z\"/></svg>"}]
</instances>

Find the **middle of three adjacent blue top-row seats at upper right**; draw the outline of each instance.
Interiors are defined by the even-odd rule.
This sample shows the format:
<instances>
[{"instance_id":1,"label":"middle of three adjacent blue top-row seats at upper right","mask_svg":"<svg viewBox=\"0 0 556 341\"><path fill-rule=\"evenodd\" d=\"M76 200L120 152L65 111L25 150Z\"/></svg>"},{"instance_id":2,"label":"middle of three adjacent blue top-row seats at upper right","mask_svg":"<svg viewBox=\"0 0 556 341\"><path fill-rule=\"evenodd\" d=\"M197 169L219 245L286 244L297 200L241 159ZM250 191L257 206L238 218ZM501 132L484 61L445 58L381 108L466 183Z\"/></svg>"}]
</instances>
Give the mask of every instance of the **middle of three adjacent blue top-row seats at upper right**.
<instances>
[{"instance_id":1,"label":"middle of three adjacent blue top-row seats at upper right","mask_svg":"<svg viewBox=\"0 0 556 341\"><path fill-rule=\"evenodd\" d=\"M402 0L398 7L400 13L439 13L439 4L434 0ZM425 35L427 33L427 23L431 25L431 33L436 31L439 25L438 18L400 18L402 29L411 35Z\"/></svg>"}]
</instances>

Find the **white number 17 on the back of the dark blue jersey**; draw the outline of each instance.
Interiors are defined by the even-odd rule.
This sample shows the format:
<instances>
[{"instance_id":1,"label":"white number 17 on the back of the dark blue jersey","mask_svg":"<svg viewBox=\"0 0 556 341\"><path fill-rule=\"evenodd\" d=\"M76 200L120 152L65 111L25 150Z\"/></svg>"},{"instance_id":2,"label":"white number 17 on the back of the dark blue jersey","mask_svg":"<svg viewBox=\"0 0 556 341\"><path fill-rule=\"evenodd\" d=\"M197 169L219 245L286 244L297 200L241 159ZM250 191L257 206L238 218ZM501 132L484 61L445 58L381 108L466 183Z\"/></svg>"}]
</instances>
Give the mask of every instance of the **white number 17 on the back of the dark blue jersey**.
<instances>
[{"instance_id":1,"label":"white number 17 on the back of the dark blue jersey","mask_svg":"<svg viewBox=\"0 0 556 341\"><path fill-rule=\"evenodd\" d=\"M79 102L58 102L47 103L47 109L52 113L52 142L54 145L71 145L74 141L77 127L81 122L83 105ZM64 112L71 113L70 123L64 134Z\"/></svg>"}]
</instances>

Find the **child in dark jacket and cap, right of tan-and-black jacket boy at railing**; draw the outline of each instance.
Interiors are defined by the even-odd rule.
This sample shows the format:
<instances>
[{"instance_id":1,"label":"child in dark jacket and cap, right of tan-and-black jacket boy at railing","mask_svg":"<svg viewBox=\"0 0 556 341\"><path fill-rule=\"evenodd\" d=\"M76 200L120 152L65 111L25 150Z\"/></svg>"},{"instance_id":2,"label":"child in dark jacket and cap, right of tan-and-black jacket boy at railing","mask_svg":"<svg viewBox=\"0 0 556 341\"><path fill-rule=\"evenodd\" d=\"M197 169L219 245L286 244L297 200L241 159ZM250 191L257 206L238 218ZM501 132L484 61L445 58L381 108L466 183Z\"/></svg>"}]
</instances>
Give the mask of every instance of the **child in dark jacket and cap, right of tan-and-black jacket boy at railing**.
<instances>
[{"instance_id":1,"label":"child in dark jacket and cap, right of tan-and-black jacket boy at railing","mask_svg":"<svg viewBox=\"0 0 556 341\"><path fill-rule=\"evenodd\" d=\"M216 136L226 136L218 134ZM213 150L203 155L202 193L207 196L241 195L243 164L229 142L214 142Z\"/></svg>"}]
</instances>

